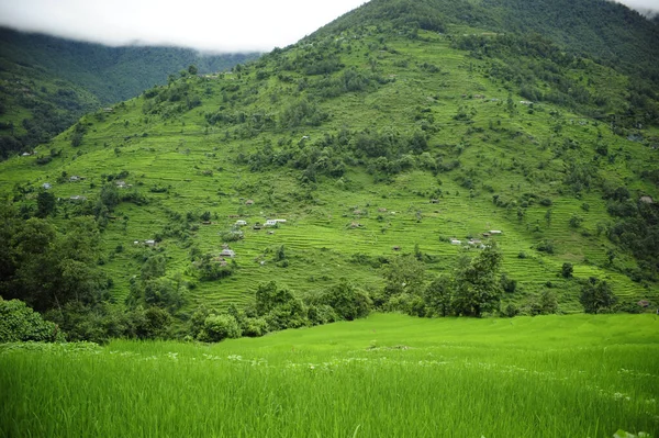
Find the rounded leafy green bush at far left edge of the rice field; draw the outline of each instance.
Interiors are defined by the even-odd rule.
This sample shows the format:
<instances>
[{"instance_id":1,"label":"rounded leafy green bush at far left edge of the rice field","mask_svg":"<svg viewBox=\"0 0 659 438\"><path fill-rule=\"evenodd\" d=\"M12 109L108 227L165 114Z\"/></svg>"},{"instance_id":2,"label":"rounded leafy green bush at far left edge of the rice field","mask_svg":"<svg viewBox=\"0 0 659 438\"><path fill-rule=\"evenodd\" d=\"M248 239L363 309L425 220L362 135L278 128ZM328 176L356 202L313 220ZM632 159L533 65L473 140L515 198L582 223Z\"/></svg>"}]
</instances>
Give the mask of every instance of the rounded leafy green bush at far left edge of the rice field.
<instances>
[{"instance_id":1,"label":"rounded leafy green bush at far left edge of the rice field","mask_svg":"<svg viewBox=\"0 0 659 438\"><path fill-rule=\"evenodd\" d=\"M44 321L21 300L4 301L0 296L0 342L64 341L57 325Z\"/></svg>"}]
</instances>

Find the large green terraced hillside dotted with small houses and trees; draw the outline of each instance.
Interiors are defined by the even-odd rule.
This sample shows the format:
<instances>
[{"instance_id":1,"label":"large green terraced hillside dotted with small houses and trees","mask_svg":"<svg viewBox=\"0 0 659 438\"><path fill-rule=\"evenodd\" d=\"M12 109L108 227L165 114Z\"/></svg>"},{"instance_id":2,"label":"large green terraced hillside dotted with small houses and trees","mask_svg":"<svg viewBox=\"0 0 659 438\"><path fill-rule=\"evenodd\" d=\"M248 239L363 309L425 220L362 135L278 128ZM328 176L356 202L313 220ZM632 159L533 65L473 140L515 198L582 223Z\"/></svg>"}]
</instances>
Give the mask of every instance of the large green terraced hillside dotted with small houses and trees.
<instances>
[{"instance_id":1,"label":"large green terraced hillside dotted with small houses and trees","mask_svg":"<svg viewBox=\"0 0 659 438\"><path fill-rule=\"evenodd\" d=\"M435 2L396 4L440 33L396 20L404 11L360 20L388 4L233 72L150 88L1 164L14 217L0 234L3 296L31 291L16 260L33 252L12 234L49 221L46 240L64 249L46 265L96 257L109 281L87 277L85 290L176 301L181 319L252 303L268 281L310 297L339 278L381 308L423 314L418 291L492 243L502 310L534 314L552 296L554 311L581 312L590 278L618 308L656 305L659 134L651 112L633 117L635 79L545 36L456 24ZM34 215L46 220L16 218ZM58 244L83 215L101 228L87 261ZM286 222L255 229L267 220ZM387 279L405 263L418 284Z\"/></svg>"}]
</instances>

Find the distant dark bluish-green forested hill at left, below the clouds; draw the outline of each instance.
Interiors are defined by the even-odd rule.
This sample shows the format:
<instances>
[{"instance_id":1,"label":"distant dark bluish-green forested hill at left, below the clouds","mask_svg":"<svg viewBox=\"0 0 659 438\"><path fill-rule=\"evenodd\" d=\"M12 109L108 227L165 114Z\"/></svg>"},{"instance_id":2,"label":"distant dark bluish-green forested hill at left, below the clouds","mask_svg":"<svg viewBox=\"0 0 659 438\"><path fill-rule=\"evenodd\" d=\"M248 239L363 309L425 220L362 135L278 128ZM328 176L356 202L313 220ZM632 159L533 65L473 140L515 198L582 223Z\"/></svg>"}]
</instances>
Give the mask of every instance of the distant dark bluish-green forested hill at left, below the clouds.
<instances>
[{"instance_id":1,"label":"distant dark bluish-green forested hill at left, below the clouds","mask_svg":"<svg viewBox=\"0 0 659 438\"><path fill-rule=\"evenodd\" d=\"M190 65L215 72L256 56L109 47L0 27L0 159L48 141L89 111L167 83Z\"/></svg>"}]
</instances>

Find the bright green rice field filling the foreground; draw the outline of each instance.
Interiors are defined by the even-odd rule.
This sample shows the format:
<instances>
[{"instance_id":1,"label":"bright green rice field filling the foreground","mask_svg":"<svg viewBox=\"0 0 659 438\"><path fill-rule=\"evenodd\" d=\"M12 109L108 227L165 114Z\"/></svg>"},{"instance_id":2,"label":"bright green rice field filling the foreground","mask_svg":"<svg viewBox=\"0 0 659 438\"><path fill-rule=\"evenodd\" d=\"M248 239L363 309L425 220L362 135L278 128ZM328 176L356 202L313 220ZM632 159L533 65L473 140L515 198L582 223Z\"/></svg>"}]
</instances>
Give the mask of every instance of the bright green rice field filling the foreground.
<instances>
[{"instance_id":1,"label":"bright green rice field filling the foreground","mask_svg":"<svg viewBox=\"0 0 659 438\"><path fill-rule=\"evenodd\" d=\"M3 437L659 431L659 319L367 319L219 345L0 347Z\"/></svg>"}]
</instances>

